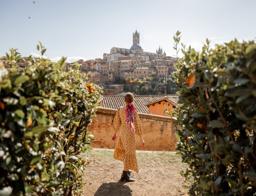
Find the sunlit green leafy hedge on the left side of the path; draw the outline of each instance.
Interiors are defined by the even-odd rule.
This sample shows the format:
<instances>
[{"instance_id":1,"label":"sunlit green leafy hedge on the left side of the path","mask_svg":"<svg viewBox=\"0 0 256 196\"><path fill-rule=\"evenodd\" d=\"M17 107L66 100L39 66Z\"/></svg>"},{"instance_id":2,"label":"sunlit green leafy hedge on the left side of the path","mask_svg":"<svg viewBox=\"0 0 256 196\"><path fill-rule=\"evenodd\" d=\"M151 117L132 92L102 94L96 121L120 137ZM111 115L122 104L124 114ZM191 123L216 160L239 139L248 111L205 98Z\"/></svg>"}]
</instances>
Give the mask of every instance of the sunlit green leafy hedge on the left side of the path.
<instances>
[{"instance_id":1,"label":"sunlit green leafy hedge on the left side of the path","mask_svg":"<svg viewBox=\"0 0 256 196\"><path fill-rule=\"evenodd\" d=\"M46 49L38 46L43 56ZM29 57L15 69L20 54L7 55L14 69L0 69L0 195L82 193L79 154L90 150L87 130L102 89L76 69Z\"/></svg>"}]
</instances>

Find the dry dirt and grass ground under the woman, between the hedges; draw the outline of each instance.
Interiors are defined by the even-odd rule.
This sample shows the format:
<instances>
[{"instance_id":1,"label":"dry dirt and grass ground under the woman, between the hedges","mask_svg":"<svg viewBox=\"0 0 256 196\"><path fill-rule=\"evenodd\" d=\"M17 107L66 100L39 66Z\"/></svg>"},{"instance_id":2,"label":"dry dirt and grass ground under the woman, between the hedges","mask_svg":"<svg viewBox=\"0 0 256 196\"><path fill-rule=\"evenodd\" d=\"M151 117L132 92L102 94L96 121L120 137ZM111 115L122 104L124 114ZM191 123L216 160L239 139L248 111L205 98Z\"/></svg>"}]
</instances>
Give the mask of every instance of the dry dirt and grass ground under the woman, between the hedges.
<instances>
[{"instance_id":1,"label":"dry dirt and grass ground under the woman, between the hedges","mask_svg":"<svg viewBox=\"0 0 256 196\"><path fill-rule=\"evenodd\" d=\"M139 173L135 182L120 180L123 162L113 159L113 150L94 149L87 153L90 163L85 170L84 196L188 196L189 183L180 175L186 164L171 152L137 151Z\"/></svg>"}]
</instances>

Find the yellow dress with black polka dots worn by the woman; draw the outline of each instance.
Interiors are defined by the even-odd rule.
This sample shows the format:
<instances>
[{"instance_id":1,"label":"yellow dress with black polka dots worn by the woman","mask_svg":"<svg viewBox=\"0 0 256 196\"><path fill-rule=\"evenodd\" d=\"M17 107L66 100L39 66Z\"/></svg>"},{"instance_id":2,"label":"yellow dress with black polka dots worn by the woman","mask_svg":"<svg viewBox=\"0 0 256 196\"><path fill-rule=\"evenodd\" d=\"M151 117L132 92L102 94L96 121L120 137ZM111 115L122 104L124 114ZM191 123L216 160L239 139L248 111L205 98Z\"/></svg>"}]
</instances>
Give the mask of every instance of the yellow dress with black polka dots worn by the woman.
<instances>
[{"instance_id":1,"label":"yellow dress with black polka dots worn by the woman","mask_svg":"<svg viewBox=\"0 0 256 196\"><path fill-rule=\"evenodd\" d=\"M139 172L135 149L135 134L132 133L129 124L126 124L125 107L119 107L116 112L113 128L119 130L116 148L114 150L114 159L124 162L124 170L134 170ZM138 112L134 112L135 133L142 135L142 125Z\"/></svg>"}]
</instances>

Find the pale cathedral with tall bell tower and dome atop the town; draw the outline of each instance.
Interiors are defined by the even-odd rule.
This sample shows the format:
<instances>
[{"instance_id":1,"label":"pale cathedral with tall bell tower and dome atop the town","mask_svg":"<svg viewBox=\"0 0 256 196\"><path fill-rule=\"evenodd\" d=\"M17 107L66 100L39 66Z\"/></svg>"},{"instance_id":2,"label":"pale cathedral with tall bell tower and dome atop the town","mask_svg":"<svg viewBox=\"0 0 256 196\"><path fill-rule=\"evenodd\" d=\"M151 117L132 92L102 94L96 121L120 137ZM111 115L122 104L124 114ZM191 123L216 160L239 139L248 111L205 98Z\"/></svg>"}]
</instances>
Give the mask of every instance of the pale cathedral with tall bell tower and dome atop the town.
<instances>
[{"instance_id":1,"label":"pale cathedral with tall bell tower and dome atop the town","mask_svg":"<svg viewBox=\"0 0 256 196\"><path fill-rule=\"evenodd\" d=\"M152 61L157 58L166 57L166 53L163 53L163 49L159 49L156 52L144 52L143 48L140 46L140 32L137 30L133 33L133 45L130 49L125 48L111 48L110 54L105 54L107 62L118 61L120 57L131 57L131 58L143 58L143 61Z\"/></svg>"}]
</instances>

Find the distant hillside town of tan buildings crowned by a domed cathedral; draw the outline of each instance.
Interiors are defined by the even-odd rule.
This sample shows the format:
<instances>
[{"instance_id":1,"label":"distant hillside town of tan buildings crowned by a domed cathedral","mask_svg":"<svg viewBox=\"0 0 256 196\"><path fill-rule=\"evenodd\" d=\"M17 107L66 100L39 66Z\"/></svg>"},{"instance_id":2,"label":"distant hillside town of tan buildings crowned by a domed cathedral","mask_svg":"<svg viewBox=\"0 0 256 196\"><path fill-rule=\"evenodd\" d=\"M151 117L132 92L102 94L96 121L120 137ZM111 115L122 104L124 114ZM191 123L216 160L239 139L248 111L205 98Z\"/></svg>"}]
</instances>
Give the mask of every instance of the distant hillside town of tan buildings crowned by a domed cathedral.
<instances>
[{"instance_id":1,"label":"distant hillside town of tan buildings crowned by a domed cathedral","mask_svg":"<svg viewBox=\"0 0 256 196\"><path fill-rule=\"evenodd\" d=\"M132 80L154 77L159 81L172 78L177 58L167 56L160 46L156 52L145 52L140 46L140 32L137 30L133 33L132 41L130 49L112 47L110 53L103 54L103 58L77 61L82 75L90 72L88 79L95 84L116 84L120 79L128 77ZM6 68L11 66L7 57L2 57L0 61ZM26 66L27 57L20 58L18 67L25 68ZM75 65L65 63L65 66L74 67Z\"/></svg>"}]
</instances>

